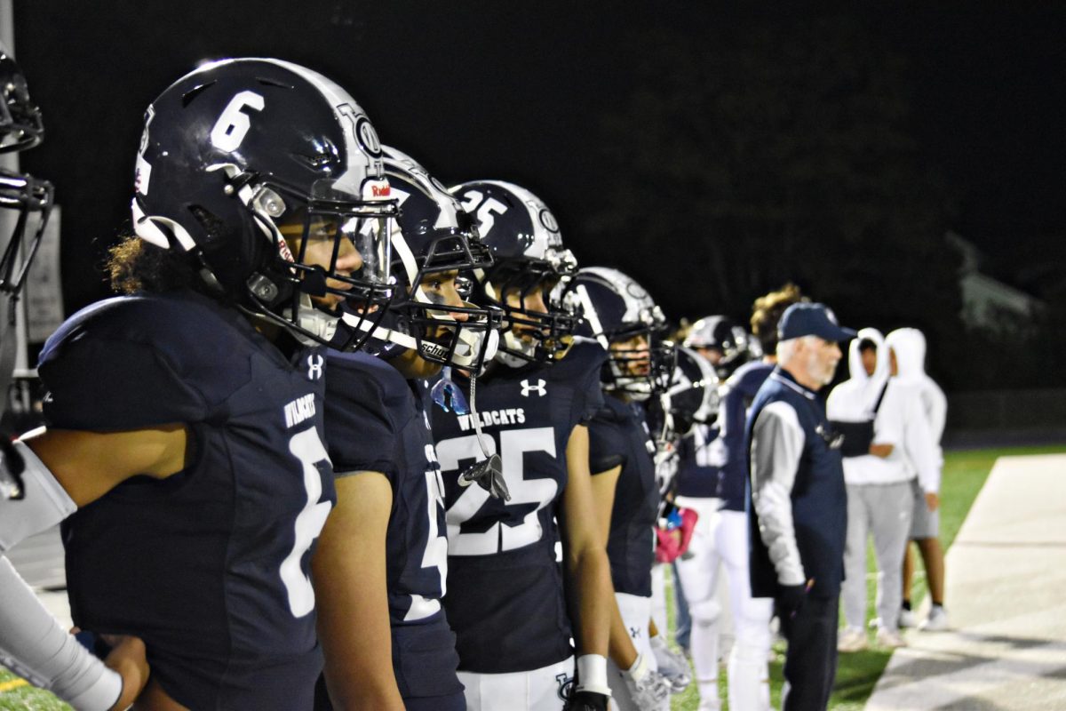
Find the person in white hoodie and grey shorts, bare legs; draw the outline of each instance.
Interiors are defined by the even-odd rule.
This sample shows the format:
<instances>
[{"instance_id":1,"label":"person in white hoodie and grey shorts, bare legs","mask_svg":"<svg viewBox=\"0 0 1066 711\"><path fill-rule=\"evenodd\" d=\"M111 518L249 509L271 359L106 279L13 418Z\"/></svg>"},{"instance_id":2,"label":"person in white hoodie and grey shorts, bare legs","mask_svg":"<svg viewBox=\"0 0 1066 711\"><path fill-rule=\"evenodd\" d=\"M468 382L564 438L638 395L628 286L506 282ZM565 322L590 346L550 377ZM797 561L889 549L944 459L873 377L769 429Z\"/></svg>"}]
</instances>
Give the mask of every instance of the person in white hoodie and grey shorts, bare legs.
<instances>
[{"instance_id":1,"label":"person in white hoodie and grey shorts, bare legs","mask_svg":"<svg viewBox=\"0 0 1066 711\"><path fill-rule=\"evenodd\" d=\"M943 467L943 451L940 449L940 438L943 436L944 420L948 415L948 399L932 377L925 373L925 336L917 328L898 328L885 338L890 349L891 361L895 365L893 373L901 383L918 390L922 411L930 429L936 452L937 476L928 487L915 487L915 513L910 526L910 539L918 544L925 566L925 578L928 583L933 604L928 617L922 621L919 629L937 631L948 629L948 613L943 608L943 548L940 546L940 471ZM904 558L903 566L903 610L900 611L900 626L914 627L914 614L910 611L910 585L915 567L910 548Z\"/></svg>"}]
</instances>

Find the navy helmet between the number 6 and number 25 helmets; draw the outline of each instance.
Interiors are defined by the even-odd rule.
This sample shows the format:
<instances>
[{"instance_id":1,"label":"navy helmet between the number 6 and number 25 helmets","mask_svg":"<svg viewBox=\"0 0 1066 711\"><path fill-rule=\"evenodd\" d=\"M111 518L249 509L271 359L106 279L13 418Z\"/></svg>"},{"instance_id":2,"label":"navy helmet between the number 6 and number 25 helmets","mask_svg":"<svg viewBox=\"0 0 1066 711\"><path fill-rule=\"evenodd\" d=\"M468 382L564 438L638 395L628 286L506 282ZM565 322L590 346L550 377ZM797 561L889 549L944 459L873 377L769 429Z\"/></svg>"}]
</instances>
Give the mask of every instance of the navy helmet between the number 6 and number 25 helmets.
<instances>
[{"instance_id":1,"label":"navy helmet between the number 6 and number 25 helmets","mask_svg":"<svg viewBox=\"0 0 1066 711\"><path fill-rule=\"evenodd\" d=\"M477 306L470 295L474 270L492 265L492 256L478 237L473 219L436 178L409 156L383 147L385 174L400 207L391 238L394 296L381 324L345 313L355 329L370 330L368 348L388 356L415 350L431 362L457 366L478 373L492 358L499 342L502 311ZM456 288L463 306L445 306L432 288L435 278L458 272ZM456 316L462 314L462 319Z\"/></svg>"}]
</instances>

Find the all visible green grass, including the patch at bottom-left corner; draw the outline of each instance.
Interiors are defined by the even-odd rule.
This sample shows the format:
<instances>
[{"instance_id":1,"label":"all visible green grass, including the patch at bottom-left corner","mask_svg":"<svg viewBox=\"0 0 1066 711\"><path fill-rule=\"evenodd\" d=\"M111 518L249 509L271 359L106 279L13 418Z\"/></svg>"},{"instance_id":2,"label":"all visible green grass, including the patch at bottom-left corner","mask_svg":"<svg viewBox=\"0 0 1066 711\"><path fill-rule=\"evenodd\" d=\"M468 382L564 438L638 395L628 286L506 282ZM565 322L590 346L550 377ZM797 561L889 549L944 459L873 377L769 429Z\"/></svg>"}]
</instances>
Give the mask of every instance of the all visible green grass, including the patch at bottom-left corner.
<instances>
[{"instance_id":1,"label":"all visible green grass, including the patch at bottom-left corner","mask_svg":"<svg viewBox=\"0 0 1066 711\"><path fill-rule=\"evenodd\" d=\"M978 491L985 483L988 472L991 470L996 458L1010 454L1049 454L1066 451L1066 446L1038 447L1038 448L1012 448L996 450L967 450L962 452L949 452L944 456L943 482L941 485L941 510L940 510L940 540L944 548L951 546L958 533L963 520ZM873 616L874 600L874 579L876 572L873 568L872 551L867 556L870 561L869 581L869 611L868 616ZM914 593L914 603L917 607L925 595L925 580L921 572L916 575L916 586ZM667 601L669 601L667 596ZM948 600L950 609L951 601ZM671 627L673 629L673 605L669 605ZM873 640L871 639L871 642ZM775 647L777 660L770 667L771 696L773 708L780 708L781 693L781 661L784 659L784 647ZM866 705L867 698L873 691L877 678L888 664L890 653L878 649L869 649L853 655L842 655L840 666L837 670L837 684L833 698L829 700L829 708L835 711L858 711ZM720 675L720 692L723 699L723 709L728 709L726 699L725 673ZM695 711L699 704L699 696L696 693L695 684L689 688L683 694L675 696L672 704L672 711ZM48 692L34 689L3 667L0 667L0 711L69 711L70 707L58 700Z\"/></svg>"}]
</instances>

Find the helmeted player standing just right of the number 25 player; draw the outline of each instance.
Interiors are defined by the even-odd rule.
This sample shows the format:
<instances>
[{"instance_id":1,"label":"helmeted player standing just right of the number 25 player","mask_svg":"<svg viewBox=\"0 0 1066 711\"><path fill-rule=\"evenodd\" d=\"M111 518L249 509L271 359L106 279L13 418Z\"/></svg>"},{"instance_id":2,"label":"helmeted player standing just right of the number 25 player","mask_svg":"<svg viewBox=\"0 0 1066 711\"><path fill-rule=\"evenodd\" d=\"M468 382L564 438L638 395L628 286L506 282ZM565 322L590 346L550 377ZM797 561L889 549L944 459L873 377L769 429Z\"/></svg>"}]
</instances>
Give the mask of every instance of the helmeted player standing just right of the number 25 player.
<instances>
[{"instance_id":1,"label":"helmeted player standing just right of the number 25 player","mask_svg":"<svg viewBox=\"0 0 1066 711\"><path fill-rule=\"evenodd\" d=\"M608 680L624 711L668 709L671 688L651 648L658 637L650 620L660 494L656 445L641 403L668 384L673 344L659 341L665 319L655 302L621 272L585 268L570 288L583 312L578 334L609 353L600 371L604 404L588 425L593 494L617 601Z\"/></svg>"}]
</instances>

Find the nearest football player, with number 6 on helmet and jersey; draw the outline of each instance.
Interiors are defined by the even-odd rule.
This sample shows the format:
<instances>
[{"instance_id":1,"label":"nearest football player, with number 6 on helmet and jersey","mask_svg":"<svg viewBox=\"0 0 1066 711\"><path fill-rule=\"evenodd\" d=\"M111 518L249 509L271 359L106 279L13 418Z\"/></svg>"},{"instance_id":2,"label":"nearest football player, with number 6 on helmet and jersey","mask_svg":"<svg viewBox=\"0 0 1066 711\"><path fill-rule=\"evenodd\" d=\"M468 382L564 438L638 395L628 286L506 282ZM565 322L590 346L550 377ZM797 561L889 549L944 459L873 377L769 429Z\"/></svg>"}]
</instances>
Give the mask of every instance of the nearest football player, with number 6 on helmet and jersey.
<instances>
[{"instance_id":1,"label":"nearest football player, with number 6 on helmet and jersey","mask_svg":"<svg viewBox=\"0 0 1066 711\"><path fill-rule=\"evenodd\" d=\"M132 293L42 353L48 429L17 443L41 501L25 533L69 516L75 623L144 639L143 708L309 709L310 553L334 484L324 356L290 334L320 340L303 295L388 301L376 134L314 71L209 63L148 108L132 212L110 262Z\"/></svg>"}]
</instances>

